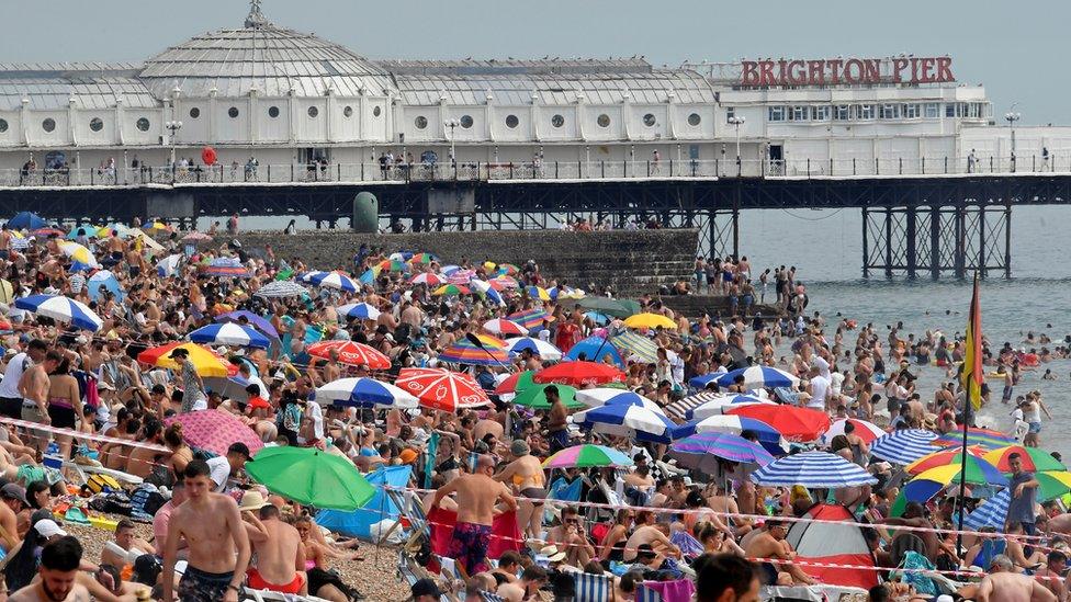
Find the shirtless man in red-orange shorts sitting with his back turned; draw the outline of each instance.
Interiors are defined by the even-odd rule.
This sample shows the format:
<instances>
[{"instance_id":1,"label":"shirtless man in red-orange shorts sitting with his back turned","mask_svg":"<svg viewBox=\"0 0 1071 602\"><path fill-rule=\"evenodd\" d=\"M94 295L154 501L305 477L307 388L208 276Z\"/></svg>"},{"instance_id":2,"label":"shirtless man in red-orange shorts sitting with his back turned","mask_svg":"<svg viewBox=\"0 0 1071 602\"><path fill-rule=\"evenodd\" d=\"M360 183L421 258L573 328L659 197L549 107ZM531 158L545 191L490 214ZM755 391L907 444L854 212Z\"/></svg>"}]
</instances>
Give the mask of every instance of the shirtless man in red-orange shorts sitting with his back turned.
<instances>
[{"instance_id":1,"label":"shirtless man in red-orange shorts sitting with his back turned","mask_svg":"<svg viewBox=\"0 0 1071 602\"><path fill-rule=\"evenodd\" d=\"M252 498L250 503L246 497ZM279 508L264 502L260 493L247 491L241 501L246 533L257 553L257 566L249 569L249 587L306 594L305 552L297 530L280 521ZM255 511L260 520L253 516Z\"/></svg>"}]
</instances>

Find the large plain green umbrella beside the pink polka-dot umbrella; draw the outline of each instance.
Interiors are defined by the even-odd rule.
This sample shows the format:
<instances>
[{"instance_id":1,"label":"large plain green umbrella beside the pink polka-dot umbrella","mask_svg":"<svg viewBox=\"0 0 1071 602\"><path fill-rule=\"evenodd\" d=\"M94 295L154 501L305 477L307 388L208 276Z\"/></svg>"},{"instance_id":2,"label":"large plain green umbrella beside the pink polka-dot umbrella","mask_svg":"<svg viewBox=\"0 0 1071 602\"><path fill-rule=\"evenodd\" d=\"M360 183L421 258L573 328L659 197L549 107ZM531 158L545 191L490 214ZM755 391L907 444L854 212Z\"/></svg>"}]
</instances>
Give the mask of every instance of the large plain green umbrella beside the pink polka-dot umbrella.
<instances>
[{"instance_id":1,"label":"large plain green umbrella beside the pink polka-dot umbrella","mask_svg":"<svg viewBox=\"0 0 1071 602\"><path fill-rule=\"evenodd\" d=\"M353 511L375 495L352 462L315 447L266 447L246 473L272 493L315 508Z\"/></svg>"}]
</instances>

